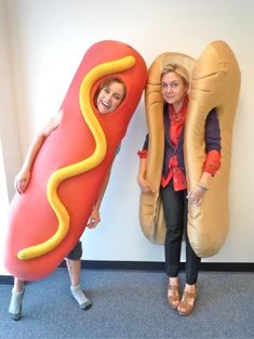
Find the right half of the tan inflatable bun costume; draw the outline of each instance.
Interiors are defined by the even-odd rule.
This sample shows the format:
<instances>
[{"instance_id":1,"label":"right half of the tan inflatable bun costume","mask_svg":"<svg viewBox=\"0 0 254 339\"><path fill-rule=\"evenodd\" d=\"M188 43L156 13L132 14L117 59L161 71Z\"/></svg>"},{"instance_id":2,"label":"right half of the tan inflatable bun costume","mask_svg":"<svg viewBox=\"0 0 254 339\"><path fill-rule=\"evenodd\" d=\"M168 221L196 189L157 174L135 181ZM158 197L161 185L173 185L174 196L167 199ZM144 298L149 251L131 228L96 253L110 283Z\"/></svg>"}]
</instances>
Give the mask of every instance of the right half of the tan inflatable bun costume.
<instances>
[{"instance_id":1,"label":"right half of the tan inflatable bun costume","mask_svg":"<svg viewBox=\"0 0 254 339\"><path fill-rule=\"evenodd\" d=\"M240 69L223 41L206 47L191 75L190 102L185 127L185 166L188 187L193 188L205 159L204 123L216 108L222 136L222 166L211 180L200 206L189 205L188 235L199 257L211 257L223 246L229 225L228 188L232 128L240 92Z\"/></svg>"}]
</instances>

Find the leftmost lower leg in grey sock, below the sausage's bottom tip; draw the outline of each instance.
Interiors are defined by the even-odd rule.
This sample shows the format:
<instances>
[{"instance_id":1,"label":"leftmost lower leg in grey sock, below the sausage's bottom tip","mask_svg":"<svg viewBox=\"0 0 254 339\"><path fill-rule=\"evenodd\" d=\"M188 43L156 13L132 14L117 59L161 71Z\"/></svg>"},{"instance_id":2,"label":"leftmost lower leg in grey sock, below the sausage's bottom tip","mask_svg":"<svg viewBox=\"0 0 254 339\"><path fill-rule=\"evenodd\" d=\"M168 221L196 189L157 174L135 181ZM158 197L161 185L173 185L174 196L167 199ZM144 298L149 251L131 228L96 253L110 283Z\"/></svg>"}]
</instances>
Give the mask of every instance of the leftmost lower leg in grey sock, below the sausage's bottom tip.
<instances>
[{"instance_id":1,"label":"leftmost lower leg in grey sock, below the sausage's bottom tip","mask_svg":"<svg viewBox=\"0 0 254 339\"><path fill-rule=\"evenodd\" d=\"M9 305L9 314L14 321L22 317L22 300L25 292L24 282L14 277L14 286L12 289L12 298Z\"/></svg>"}]
</instances>

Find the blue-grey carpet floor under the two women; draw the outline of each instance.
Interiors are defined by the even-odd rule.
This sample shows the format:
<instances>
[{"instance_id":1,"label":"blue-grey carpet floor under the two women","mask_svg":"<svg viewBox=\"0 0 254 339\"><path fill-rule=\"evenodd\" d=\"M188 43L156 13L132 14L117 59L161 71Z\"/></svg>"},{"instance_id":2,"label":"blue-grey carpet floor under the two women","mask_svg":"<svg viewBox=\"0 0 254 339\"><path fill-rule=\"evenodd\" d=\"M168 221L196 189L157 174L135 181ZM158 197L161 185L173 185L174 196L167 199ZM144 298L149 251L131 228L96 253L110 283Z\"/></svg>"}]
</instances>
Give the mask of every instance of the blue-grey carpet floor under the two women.
<instances>
[{"instance_id":1,"label":"blue-grey carpet floor under the two women","mask_svg":"<svg viewBox=\"0 0 254 339\"><path fill-rule=\"evenodd\" d=\"M254 338L254 273L201 272L188 317L169 308L164 273L82 270L81 282L89 311L79 309L59 269L27 284L19 322L8 315L12 286L0 285L0 339Z\"/></svg>"}]
</instances>

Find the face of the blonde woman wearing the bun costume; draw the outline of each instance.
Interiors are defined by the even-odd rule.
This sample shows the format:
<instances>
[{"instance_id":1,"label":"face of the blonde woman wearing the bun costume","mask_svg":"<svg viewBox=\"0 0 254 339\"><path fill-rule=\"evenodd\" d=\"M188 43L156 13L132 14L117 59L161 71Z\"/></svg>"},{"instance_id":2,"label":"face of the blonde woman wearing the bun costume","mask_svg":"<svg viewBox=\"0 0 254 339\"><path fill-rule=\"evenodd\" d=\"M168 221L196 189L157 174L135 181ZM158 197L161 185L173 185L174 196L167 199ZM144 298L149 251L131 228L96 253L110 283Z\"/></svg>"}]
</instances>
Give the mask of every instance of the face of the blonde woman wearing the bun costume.
<instances>
[{"instance_id":1,"label":"face of the blonde woman wearing the bun costume","mask_svg":"<svg viewBox=\"0 0 254 339\"><path fill-rule=\"evenodd\" d=\"M168 104L173 105L176 109L182 107L187 91L188 87L184 83L182 77L174 71L169 71L162 76L162 96Z\"/></svg>"}]
</instances>

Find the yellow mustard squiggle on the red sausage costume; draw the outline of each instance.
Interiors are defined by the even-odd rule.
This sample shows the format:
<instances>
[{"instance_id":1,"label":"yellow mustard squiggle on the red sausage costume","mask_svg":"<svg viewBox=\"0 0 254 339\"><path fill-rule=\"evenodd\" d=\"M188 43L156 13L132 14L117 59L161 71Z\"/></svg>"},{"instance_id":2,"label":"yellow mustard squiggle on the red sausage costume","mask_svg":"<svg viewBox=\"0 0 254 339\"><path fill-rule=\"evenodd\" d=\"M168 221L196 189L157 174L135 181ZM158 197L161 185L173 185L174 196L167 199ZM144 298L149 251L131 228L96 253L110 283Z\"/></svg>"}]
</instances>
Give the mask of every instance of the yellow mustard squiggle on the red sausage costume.
<instances>
[{"instance_id":1,"label":"yellow mustard squiggle on the red sausage costume","mask_svg":"<svg viewBox=\"0 0 254 339\"><path fill-rule=\"evenodd\" d=\"M92 86L96 80L106 75L130 69L134 65L135 57L131 55L125 56L117 61L107 62L94 67L92 70L88 73L88 75L82 80L79 91L79 102L83 118L95 139L96 144L95 151L89 158L77 164L61 168L53 172L48 183L46 196L52 209L54 210L57 217L58 229L56 233L48 240L31 247L24 248L21 251L18 251L17 257L21 260L28 260L41 257L50 252L67 235L69 231L69 214L65 206L58 198L57 187L62 181L86 172L92 168L98 166L103 161L107 152L107 142L104 131L98 120L96 119L95 115L93 114L93 109L90 103L90 93Z\"/></svg>"}]
</instances>

